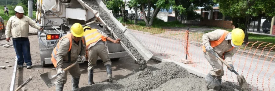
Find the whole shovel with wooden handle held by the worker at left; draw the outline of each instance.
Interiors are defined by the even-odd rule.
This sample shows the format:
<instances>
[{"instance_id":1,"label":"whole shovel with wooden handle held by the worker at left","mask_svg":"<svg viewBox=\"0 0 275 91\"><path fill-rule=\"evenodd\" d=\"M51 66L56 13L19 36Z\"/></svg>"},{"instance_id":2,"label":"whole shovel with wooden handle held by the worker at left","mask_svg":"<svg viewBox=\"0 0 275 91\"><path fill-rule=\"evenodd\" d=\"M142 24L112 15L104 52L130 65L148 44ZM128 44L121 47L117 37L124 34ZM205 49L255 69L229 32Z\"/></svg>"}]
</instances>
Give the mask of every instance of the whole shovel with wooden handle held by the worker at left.
<instances>
[{"instance_id":1,"label":"whole shovel with wooden handle held by the worker at left","mask_svg":"<svg viewBox=\"0 0 275 91\"><path fill-rule=\"evenodd\" d=\"M80 56L77 58L77 61L73 64L71 64L70 66L68 66L67 68L63 69L62 71L67 71L68 69L70 69L71 67L75 66L78 63L83 63L84 61L80 59ZM57 73L56 72L46 72L40 75L40 77L43 79L43 81L46 83L46 85L50 88L53 85L55 85L57 83L56 81L56 77L59 76L61 73Z\"/></svg>"}]
</instances>

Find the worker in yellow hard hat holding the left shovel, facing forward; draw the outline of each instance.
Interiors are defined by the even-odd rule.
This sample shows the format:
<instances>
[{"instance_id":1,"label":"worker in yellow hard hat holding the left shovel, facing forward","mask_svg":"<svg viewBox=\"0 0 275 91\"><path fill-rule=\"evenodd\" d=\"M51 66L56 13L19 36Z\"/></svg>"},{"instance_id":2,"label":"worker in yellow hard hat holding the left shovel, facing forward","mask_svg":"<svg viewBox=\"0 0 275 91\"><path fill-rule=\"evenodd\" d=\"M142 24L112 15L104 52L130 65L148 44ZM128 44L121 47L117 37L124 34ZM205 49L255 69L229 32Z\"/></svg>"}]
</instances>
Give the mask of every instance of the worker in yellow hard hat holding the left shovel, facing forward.
<instances>
[{"instance_id":1,"label":"worker in yellow hard hat holding the left shovel, facing forward","mask_svg":"<svg viewBox=\"0 0 275 91\"><path fill-rule=\"evenodd\" d=\"M52 62L54 67L57 69L57 73L62 74L57 76L56 91L63 91L64 84L67 82L67 74L70 72L72 79L71 89L77 89L80 78L79 64L68 69L68 71L62 71L64 68L75 63L78 56L81 56L82 60L85 60L86 55L86 44L85 38L83 38L83 27L79 23L75 23L71 26L71 33L60 38L56 47L53 49Z\"/></svg>"}]
</instances>

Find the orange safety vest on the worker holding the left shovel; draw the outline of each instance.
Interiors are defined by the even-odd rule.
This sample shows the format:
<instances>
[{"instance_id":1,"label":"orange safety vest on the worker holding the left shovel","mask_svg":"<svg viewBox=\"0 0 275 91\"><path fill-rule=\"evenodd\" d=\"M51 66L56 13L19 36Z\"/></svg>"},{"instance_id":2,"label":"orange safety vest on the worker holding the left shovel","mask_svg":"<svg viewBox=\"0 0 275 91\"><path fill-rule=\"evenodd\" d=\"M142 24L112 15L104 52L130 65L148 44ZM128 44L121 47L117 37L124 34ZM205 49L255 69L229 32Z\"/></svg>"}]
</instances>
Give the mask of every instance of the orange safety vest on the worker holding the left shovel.
<instances>
[{"instance_id":1,"label":"orange safety vest on the worker holding the left shovel","mask_svg":"<svg viewBox=\"0 0 275 91\"><path fill-rule=\"evenodd\" d=\"M65 35L65 36L63 36L62 38L68 38L69 39L69 41L70 41L70 47L69 47L69 50L68 50L68 52L69 52L69 55L68 55L68 61L70 62L71 61L71 45L72 45L72 38L71 38L71 33L70 34L68 34L68 35ZM59 40L61 40L62 38L60 38ZM59 41L58 40L58 41ZM82 37L82 43L81 43L81 50L82 50L82 48L83 48L83 43L84 43L84 39L83 39L83 37ZM59 49L59 42L57 43L57 46L56 47L54 47L54 49L53 49L53 52L52 52L52 62L53 62L53 65L54 65L54 67L57 67L57 61L56 61L56 53L57 53L57 51L58 51L58 49Z\"/></svg>"}]
</instances>

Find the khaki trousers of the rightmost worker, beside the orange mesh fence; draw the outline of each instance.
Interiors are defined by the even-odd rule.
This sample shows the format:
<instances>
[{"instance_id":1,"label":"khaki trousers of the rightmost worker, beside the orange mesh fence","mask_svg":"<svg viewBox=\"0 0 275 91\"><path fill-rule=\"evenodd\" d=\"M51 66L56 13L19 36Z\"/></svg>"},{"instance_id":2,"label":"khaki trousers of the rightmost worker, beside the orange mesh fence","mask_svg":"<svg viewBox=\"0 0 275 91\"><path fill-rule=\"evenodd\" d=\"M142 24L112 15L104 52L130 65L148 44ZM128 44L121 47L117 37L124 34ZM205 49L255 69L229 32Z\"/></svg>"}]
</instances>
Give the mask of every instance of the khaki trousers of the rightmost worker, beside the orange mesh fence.
<instances>
[{"instance_id":1,"label":"khaki trousers of the rightmost worker, beside the orange mesh fence","mask_svg":"<svg viewBox=\"0 0 275 91\"><path fill-rule=\"evenodd\" d=\"M204 52L204 57L212 66L212 69L209 71L209 73L212 76L216 76L215 79L222 79L222 76L224 75L223 63L215 55L209 52Z\"/></svg>"}]
</instances>

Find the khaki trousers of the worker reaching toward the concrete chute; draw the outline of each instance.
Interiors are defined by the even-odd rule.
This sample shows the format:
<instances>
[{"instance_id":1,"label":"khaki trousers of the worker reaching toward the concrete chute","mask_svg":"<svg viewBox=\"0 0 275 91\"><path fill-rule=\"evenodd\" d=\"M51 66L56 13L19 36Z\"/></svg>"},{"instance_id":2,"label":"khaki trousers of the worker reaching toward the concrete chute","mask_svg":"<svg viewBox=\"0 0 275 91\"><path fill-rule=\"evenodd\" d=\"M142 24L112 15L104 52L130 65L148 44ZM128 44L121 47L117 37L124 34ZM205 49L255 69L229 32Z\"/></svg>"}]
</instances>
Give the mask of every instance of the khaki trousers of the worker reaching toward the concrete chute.
<instances>
[{"instance_id":1,"label":"khaki trousers of the worker reaching toward the concrete chute","mask_svg":"<svg viewBox=\"0 0 275 91\"><path fill-rule=\"evenodd\" d=\"M87 53L87 52L86 52ZM97 66L97 58L98 56L101 58L101 60L104 63L104 66L106 65L112 65L111 60L109 59L109 54L107 52L106 46L104 44L98 44L94 45L88 50L88 70L95 69L95 66Z\"/></svg>"}]
</instances>

